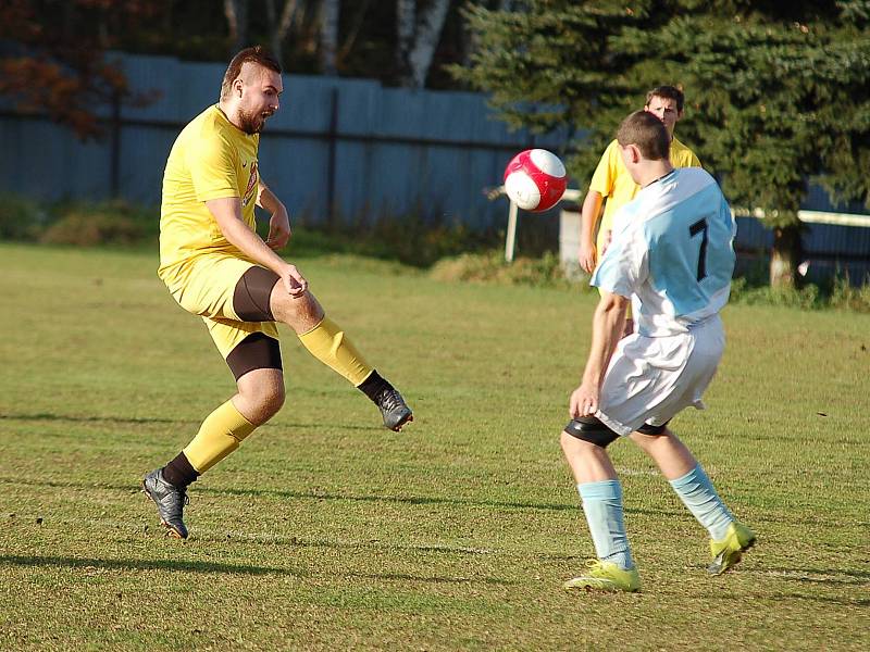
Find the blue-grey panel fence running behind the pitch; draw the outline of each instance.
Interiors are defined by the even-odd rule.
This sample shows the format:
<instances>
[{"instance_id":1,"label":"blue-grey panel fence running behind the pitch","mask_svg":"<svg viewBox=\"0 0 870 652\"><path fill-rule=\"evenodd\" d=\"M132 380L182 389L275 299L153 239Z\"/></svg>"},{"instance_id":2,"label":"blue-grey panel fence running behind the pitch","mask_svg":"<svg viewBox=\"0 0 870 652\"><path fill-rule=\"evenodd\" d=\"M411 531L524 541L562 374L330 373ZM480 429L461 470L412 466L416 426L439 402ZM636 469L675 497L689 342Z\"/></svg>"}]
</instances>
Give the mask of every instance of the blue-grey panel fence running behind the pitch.
<instances>
[{"instance_id":1,"label":"blue-grey panel fence running behind the pitch","mask_svg":"<svg viewBox=\"0 0 870 652\"><path fill-rule=\"evenodd\" d=\"M98 113L109 129L83 143L45 116L22 115L0 100L0 190L44 199L120 196L157 204L163 165L182 127L217 100L220 63L117 54L134 91L157 100ZM507 162L521 149L559 151L561 135L511 133L470 92L384 88L365 79L288 75L282 110L260 149L263 178L296 215L318 224L334 217L371 221L422 208L424 214L473 228L504 227L507 201L488 201ZM836 210L812 188L805 209ZM849 206L857 212L855 206ZM557 212L552 213L554 215ZM738 248L768 250L771 234L742 218ZM555 244L555 242L554 242ZM870 229L810 224L804 238L810 276L838 268L853 279L870 273Z\"/></svg>"}]
</instances>

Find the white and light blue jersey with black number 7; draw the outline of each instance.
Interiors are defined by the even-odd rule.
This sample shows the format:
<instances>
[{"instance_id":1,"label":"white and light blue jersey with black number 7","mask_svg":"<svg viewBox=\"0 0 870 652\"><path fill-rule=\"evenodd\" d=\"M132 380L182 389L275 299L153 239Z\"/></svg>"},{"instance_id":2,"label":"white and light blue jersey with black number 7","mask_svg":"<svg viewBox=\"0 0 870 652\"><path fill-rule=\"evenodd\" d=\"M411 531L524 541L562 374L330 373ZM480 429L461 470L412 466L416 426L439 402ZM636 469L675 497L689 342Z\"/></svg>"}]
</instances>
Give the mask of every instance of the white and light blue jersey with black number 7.
<instances>
[{"instance_id":1,"label":"white and light blue jersey with black number 7","mask_svg":"<svg viewBox=\"0 0 870 652\"><path fill-rule=\"evenodd\" d=\"M592 285L639 301L637 333L686 333L728 303L736 225L716 179L674 170L643 188L613 221Z\"/></svg>"}]
</instances>

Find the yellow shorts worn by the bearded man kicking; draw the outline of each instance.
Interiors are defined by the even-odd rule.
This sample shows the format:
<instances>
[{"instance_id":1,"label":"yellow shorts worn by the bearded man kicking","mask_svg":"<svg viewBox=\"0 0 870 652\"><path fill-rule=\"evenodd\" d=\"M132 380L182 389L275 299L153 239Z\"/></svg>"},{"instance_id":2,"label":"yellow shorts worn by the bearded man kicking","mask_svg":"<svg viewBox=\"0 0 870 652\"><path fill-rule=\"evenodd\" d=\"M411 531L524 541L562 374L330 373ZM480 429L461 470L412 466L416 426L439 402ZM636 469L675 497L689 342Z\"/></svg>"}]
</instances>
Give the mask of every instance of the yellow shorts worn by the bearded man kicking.
<instances>
[{"instance_id":1,"label":"yellow shorts worn by the bearded man kicking","mask_svg":"<svg viewBox=\"0 0 870 652\"><path fill-rule=\"evenodd\" d=\"M159 272L178 304L206 322L224 360L252 333L278 339L274 322L245 322L233 305L236 285L254 266L252 261L229 253L202 253Z\"/></svg>"}]
</instances>

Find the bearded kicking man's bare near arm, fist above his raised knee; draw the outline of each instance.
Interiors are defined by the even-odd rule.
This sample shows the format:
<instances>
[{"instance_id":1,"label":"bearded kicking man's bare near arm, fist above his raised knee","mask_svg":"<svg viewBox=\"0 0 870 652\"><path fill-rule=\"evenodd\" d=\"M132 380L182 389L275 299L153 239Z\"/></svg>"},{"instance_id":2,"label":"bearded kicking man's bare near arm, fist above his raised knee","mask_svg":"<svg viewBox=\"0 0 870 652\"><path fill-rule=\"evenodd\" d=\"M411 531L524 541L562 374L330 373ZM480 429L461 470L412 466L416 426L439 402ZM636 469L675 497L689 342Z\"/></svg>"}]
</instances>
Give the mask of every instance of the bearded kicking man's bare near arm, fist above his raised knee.
<instances>
[{"instance_id":1,"label":"bearded kicking man's bare near arm, fist above his raised knee","mask_svg":"<svg viewBox=\"0 0 870 652\"><path fill-rule=\"evenodd\" d=\"M296 265L291 265L272 251L262 238L241 221L241 201L238 197L210 199L206 202L206 206L214 215L221 233L229 243L237 247L252 261L281 276L284 288L289 294L296 297L308 289L308 280L296 268Z\"/></svg>"}]
</instances>

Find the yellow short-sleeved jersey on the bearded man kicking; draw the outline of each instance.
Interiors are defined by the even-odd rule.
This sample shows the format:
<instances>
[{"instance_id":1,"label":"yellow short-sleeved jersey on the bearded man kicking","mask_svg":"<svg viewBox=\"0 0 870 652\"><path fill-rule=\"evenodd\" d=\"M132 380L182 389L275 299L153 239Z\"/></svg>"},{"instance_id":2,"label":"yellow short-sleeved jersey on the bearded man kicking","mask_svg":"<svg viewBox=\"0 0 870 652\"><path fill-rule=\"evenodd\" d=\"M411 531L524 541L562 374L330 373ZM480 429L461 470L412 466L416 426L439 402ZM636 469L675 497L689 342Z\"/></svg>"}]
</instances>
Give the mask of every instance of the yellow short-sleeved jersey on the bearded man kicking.
<instances>
[{"instance_id":1,"label":"yellow short-sleeved jersey on the bearded man kicking","mask_svg":"<svg viewBox=\"0 0 870 652\"><path fill-rule=\"evenodd\" d=\"M184 263L202 253L234 252L214 216L211 199L238 197L241 216L254 229L260 135L235 127L209 106L178 135L163 173L160 208L160 268L164 281L184 281Z\"/></svg>"}]
</instances>

